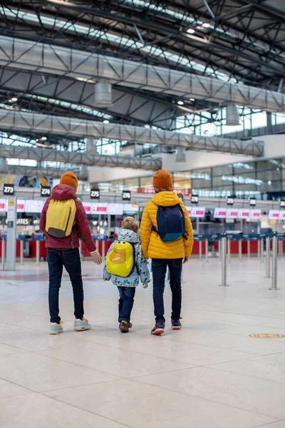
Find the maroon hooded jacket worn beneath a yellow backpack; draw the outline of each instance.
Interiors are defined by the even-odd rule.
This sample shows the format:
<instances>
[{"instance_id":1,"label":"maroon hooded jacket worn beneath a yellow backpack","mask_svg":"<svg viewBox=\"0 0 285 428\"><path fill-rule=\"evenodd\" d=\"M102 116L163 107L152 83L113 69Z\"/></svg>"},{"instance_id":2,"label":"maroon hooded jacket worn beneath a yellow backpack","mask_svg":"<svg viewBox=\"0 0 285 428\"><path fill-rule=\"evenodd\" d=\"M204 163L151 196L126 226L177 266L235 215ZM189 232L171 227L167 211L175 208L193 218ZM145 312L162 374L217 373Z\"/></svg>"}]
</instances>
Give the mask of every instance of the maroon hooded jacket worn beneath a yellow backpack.
<instances>
[{"instance_id":1,"label":"maroon hooded jacket worn beneath a yellow backpack","mask_svg":"<svg viewBox=\"0 0 285 428\"><path fill-rule=\"evenodd\" d=\"M66 238L55 238L54 236L48 235L48 233L46 232L46 212L48 210L48 205L52 199L74 199L76 202L76 225L73 228L73 247L71 246L71 236L67 236ZM70 185L58 184L53 188L51 192L51 198L48 198L46 200L46 203L43 205L43 210L41 212L40 229L43 233L46 234L46 248L78 248L79 233L88 251L92 253L96 250L96 246L90 232L86 211L82 205L81 200L77 198L76 191Z\"/></svg>"}]
</instances>

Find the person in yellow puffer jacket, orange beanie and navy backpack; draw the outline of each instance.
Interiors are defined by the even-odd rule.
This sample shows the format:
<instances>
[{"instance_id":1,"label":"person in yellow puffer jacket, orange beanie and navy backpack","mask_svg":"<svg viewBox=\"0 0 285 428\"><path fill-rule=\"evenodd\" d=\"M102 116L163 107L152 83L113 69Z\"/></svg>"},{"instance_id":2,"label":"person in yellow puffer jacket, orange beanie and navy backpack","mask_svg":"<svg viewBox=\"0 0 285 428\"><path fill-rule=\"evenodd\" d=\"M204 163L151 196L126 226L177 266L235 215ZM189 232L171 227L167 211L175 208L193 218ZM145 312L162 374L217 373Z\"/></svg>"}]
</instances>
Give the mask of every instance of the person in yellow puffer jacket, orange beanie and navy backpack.
<instances>
[{"instance_id":1,"label":"person in yellow puffer jacket, orange beanie and navy backpack","mask_svg":"<svg viewBox=\"0 0 285 428\"><path fill-rule=\"evenodd\" d=\"M142 254L146 259L152 259L153 278L153 304L155 307L155 327L152 335L161 335L165 330L164 301L163 292L165 289L165 274L167 266L170 270L170 288L172 291L172 329L180 330L182 289L181 275L182 264L186 263L192 253L193 230L187 209L182 200L172 191L172 176L166 170L158 170L152 178L155 189L155 196L145 204L140 225L140 239L142 244ZM166 230L164 235L160 233L160 225L157 225L157 218L161 220L161 207L175 207L181 212L182 221L185 224L184 235L175 240L168 240L167 236L173 235L172 228ZM162 209L163 211L163 209ZM177 215L177 213L175 213ZM163 213L162 213L163 215ZM184 219L183 219L184 217ZM171 217L170 217L171 218ZM167 220L165 224L171 224ZM166 226L167 228L167 226ZM161 228L162 230L162 228ZM173 235L175 238L175 235Z\"/></svg>"}]
</instances>

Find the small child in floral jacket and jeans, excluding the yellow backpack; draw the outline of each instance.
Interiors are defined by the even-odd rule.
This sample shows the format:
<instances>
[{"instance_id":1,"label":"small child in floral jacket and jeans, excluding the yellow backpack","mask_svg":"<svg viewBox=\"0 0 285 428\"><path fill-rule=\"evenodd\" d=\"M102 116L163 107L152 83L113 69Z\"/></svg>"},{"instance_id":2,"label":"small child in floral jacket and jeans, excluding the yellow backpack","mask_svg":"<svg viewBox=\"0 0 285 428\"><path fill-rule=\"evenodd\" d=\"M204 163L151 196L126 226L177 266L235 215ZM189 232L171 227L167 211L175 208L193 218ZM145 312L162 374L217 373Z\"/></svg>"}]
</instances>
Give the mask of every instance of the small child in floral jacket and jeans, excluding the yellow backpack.
<instances>
[{"instance_id":1,"label":"small child in floral jacket and jeans, excluding the yellow backpack","mask_svg":"<svg viewBox=\"0 0 285 428\"><path fill-rule=\"evenodd\" d=\"M117 285L120 299L119 299L119 328L121 332L128 332L130 327L133 327L130 322L130 314L133 309L133 302L135 297L135 287L138 283L142 282L143 287L147 288L148 282L150 282L150 272L145 262L145 258L142 255L142 248L140 247L138 239L139 224L133 217L126 217L122 222L122 230L118 235L118 241L126 241L134 245L135 248L135 260L133 272L128 277L119 277L111 275L108 270L106 263L103 270L103 280L112 280L114 285ZM113 250L115 243L113 243L108 254ZM107 257L108 258L108 254Z\"/></svg>"}]
</instances>

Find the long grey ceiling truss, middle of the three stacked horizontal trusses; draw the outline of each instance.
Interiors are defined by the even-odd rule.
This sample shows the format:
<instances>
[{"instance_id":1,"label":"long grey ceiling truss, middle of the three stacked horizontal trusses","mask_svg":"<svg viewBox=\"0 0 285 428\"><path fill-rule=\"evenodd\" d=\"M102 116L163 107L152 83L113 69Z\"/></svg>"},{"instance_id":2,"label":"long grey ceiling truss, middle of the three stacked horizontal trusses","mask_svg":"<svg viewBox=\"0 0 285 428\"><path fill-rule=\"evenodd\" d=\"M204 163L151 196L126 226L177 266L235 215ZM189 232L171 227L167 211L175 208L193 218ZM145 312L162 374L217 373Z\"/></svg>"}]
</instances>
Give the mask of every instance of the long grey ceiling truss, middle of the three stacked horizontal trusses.
<instances>
[{"instance_id":1,"label":"long grey ceiling truss, middle of the three stacked horizontal trusses","mask_svg":"<svg viewBox=\"0 0 285 428\"><path fill-rule=\"evenodd\" d=\"M264 144L261 141L239 141L230 138L195 136L189 133L6 109L0 110L0 129L2 131L13 130L14 132L33 131L33 133L38 132L41 135L43 133L46 133L46 135L55 133L58 136L73 136L73 138L76 136L80 138L107 138L109 140L185 147L193 150L239 153L251 156L262 156L264 154ZM140 162L139 159L138 162ZM155 162L155 160L152 159L151 162Z\"/></svg>"}]
</instances>

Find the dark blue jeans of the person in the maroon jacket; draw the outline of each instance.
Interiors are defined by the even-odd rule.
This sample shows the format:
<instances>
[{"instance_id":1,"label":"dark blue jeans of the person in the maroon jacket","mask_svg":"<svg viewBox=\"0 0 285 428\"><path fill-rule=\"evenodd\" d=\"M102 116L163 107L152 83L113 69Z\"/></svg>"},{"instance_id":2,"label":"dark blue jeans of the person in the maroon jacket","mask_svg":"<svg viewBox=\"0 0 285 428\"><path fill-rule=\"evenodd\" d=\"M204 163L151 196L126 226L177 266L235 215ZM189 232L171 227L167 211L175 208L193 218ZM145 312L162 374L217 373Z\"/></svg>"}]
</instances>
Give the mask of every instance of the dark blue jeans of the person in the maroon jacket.
<instances>
[{"instance_id":1,"label":"dark blue jeans of the person in the maroon jacket","mask_svg":"<svg viewBox=\"0 0 285 428\"><path fill-rule=\"evenodd\" d=\"M66 268L73 288L74 315L82 320L83 309L83 282L81 276L81 259L78 248L48 248L48 306L51 322L60 322L58 307L59 289L61 288L61 277L63 266Z\"/></svg>"}]
</instances>

